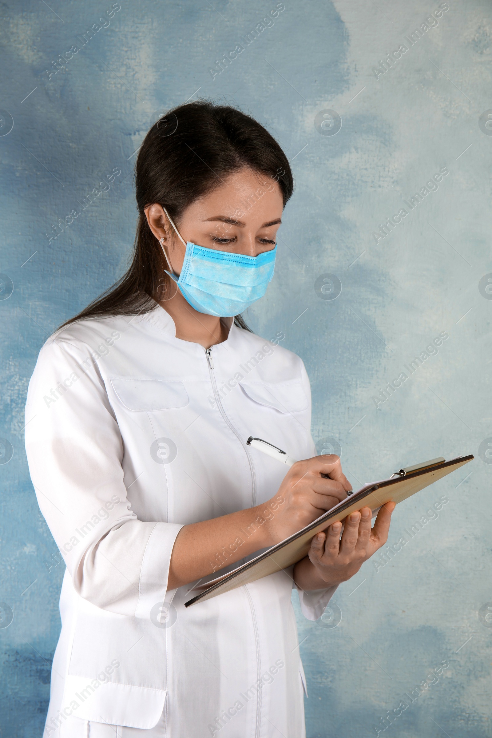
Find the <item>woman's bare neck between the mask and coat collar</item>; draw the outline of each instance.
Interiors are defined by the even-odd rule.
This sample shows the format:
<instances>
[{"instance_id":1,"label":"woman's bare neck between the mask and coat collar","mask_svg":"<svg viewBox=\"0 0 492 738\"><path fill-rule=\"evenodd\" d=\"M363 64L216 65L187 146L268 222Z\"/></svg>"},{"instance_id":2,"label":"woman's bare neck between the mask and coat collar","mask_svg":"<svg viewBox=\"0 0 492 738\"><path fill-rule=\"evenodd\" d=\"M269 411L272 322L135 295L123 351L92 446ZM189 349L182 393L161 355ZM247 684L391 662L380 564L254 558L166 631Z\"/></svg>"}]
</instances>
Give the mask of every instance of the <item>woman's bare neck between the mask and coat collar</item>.
<instances>
[{"instance_id":1,"label":"woman's bare neck between the mask and coat collar","mask_svg":"<svg viewBox=\"0 0 492 738\"><path fill-rule=\"evenodd\" d=\"M227 339L232 319L199 313L187 303L176 283L171 283L171 289L176 289L176 294L169 300L159 301L159 305L173 318L176 338L199 343L204 348L210 348Z\"/></svg>"}]
</instances>

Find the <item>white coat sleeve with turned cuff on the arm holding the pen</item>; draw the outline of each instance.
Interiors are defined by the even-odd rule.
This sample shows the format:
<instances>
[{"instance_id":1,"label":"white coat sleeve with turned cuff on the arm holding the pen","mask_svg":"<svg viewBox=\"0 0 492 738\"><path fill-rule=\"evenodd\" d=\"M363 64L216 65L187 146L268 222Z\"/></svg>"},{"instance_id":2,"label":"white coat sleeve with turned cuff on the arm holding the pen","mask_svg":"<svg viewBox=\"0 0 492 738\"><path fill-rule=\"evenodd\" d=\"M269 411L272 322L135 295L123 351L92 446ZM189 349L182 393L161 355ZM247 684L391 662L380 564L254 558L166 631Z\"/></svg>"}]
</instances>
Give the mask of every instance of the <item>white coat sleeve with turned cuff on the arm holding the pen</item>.
<instances>
[{"instance_id":1,"label":"white coat sleeve with turned cuff on the arm holding the pen","mask_svg":"<svg viewBox=\"0 0 492 738\"><path fill-rule=\"evenodd\" d=\"M44 345L25 423L32 484L75 590L103 610L150 618L165 599L182 526L131 510L122 438L89 347L57 338Z\"/></svg>"}]
</instances>

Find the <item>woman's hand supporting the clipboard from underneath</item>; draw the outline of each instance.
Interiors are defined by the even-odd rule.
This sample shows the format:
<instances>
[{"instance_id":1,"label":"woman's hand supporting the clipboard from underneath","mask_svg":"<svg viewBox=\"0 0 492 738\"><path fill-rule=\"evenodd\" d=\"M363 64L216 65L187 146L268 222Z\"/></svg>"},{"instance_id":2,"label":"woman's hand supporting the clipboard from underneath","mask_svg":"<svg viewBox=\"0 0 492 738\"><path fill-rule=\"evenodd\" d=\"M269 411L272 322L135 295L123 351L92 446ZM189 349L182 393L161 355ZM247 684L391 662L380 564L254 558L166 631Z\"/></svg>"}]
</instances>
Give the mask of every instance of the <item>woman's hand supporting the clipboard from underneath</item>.
<instances>
[{"instance_id":1,"label":"woman's hand supporting the clipboard from underneath","mask_svg":"<svg viewBox=\"0 0 492 738\"><path fill-rule=\"evenodd\" d=\"M395 503L383 505L374 528L371 527L372 511L365 507L344 520L342 538L342 523L333 523L328 531L314 536L308 556L294 568L297 585L305 590L315 590L350 579L364 561L387 542L394 509Z\"/></svg>"}]
</instances>

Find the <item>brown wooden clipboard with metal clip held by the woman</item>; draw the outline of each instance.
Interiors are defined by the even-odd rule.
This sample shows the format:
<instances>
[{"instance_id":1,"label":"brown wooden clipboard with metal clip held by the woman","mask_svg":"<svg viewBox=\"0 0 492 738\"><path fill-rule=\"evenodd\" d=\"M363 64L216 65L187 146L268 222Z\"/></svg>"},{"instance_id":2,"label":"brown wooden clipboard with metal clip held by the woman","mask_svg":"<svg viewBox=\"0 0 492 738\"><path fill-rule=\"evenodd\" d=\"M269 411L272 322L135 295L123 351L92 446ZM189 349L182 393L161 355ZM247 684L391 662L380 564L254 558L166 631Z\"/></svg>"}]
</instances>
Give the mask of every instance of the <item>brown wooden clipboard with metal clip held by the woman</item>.
<instances>
[{"instance_id":1,"label":"brown wooden clipboard with metal clip held by the woman","mask_svg":"<svg viewBox=\"0 0 492 738\"><path fill-rule=\"evenodd\" d=\"M313 523L306 525L302 530L271 546L263 554L235 568L232 572L208 582L203 591L184 603L184 607L190 607L190 605L203 602L224 592L234 590L236 587L241 587L243 584L255 582L257 579L262 579L263 576L274 574L297 564L298 561L308 555L311 539L320 531L325 531L328 525L344 520L351 512L358 511L362 507L370 507L374 515L375 511L385 503L401 503L407 497L411 497L412 494L429 486L429 484L437 482L437 480L446 477L456 469L460 469L460 466L464 466L472 459L474 459L473 454L458 456L451 459L451 461L445 461L443 457L440 457L400 469L392 474L389 479L364 485L350 497L330 508L321 517L313 520ZM194 587L194 589L196 590L197 587Z\"/></svg>"}]
</instances>

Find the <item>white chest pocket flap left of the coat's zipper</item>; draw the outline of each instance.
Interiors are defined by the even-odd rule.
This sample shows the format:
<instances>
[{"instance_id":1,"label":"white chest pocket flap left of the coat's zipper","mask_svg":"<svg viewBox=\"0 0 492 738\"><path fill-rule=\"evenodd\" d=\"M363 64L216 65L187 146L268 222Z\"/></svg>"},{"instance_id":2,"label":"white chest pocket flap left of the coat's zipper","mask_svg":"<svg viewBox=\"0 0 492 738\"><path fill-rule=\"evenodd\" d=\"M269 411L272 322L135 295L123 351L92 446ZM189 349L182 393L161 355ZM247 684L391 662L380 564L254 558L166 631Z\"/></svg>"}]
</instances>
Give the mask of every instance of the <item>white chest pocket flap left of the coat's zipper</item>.
<instances>
[{"instance_id":1,"label":"white chest pocket flap left of the coat's zipper","mask_svg":"<svg viewBox=\"0 0 492 738\"><path fill-rule=\"evenodd\" d=\"M123 407L141 413L185 407L190 401L182 382L115 378L111 379L111 386Z\"/></svg>"}]
</instances>

